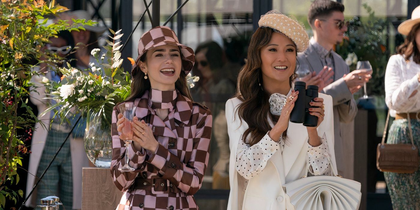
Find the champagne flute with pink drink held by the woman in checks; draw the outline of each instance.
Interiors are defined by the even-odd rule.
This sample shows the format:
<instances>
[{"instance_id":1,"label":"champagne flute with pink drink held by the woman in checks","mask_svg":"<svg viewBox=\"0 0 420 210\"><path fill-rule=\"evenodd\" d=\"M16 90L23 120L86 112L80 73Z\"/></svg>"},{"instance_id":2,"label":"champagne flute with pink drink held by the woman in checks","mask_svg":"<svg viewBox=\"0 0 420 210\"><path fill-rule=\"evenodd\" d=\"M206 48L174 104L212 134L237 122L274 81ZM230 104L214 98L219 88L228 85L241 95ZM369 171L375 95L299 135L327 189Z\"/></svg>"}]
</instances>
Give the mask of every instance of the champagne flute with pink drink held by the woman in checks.
<instances>
[{"instance_id":1,"label":"champagne flute with pink drink held by the woman in checks","mask_svg":"<svg viewBox=\"0 0 420 210\"><path fill-rule=\"evenodd\" d=\"M118 105L118 110L120 111L120 113L123 114L125 119L124 127L121 134L124 134L125 136L125 139L122 140L125 142L124 146L126 146L126 154L124 159L126 164L123 167L118 168L118 170L122 172L134 171L135 169L129 166L129 156L127 153L128 147L130 146L131 140L133 139L133 130L131 129L131 123L133 122L133 117L136 114L136 106L134 104L123 103Z\"/></svg>"}]
</instances>

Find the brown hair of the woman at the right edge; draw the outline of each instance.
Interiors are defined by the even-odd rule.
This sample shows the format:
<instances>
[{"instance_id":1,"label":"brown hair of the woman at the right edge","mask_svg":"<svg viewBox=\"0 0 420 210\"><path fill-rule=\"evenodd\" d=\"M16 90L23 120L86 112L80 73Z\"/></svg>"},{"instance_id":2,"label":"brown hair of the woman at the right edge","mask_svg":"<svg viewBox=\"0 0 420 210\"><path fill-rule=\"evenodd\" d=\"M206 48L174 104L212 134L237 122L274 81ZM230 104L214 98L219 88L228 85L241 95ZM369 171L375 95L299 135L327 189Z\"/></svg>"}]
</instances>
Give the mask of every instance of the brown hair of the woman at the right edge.
<instances>
[{"instance_id":1,"label":"brown hair of the woman at the right edge","mask_svg":"<svg viewBox=\"0 0 420 210\"><path fill-rule=\"evenodd\" d=\"M410 33L405 38L404 43L396 47L396 52L400 55L405 55L405 61L408 62L413 56L414 62L420 64L420 51L416 43L416 33L420 29L420 24L416 24L411 29ZM420 43L418 43L420 44Z\"/></svg>"}]
</instances>

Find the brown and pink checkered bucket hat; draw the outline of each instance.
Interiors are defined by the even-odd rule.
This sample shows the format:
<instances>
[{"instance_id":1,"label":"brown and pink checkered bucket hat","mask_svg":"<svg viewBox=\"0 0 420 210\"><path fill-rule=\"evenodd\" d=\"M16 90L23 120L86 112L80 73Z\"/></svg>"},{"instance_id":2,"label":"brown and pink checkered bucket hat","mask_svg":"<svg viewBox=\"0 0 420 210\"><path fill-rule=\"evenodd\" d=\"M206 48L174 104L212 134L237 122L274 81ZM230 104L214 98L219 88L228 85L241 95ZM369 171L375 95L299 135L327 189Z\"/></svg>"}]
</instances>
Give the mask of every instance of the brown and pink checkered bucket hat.
<instances>
[{"instance_id":1,"label":"brown and pink checkered bucket hat","mask_svg":"<svg viewBox=\"0 0 420 210\"><path fill-rule=\"evenodd\" d=\"M188 74L192 70L195 61L194 50L192 50L190 47L180 44L178 37L176 37L175 32L173 32L171 28L167 26L156 26L155 28L152 28L148 32L144 33L142 37L140 37L138 45L139 57L137 57L136 63L131 69L132 77L134 77L140 71L138 63L142 55L144 55L147 50L162 45L178 46L181 50L182 68L184 69L185 74Z\"/></svg>"}]
</instances>

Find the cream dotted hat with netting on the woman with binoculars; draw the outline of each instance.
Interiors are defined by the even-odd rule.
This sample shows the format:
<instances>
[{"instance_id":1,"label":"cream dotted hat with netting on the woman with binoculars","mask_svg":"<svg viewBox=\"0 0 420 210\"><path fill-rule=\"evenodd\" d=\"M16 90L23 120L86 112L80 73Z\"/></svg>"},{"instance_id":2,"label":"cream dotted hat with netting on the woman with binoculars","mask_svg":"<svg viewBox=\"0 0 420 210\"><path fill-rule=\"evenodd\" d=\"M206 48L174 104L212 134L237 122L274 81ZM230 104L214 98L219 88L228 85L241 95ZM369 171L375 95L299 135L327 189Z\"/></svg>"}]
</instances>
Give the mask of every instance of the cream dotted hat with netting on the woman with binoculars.
<instances>
[{"instance_id":1,"label":"cream dotted hat with netting on the woman with binoculars","mask_svg":"<svg viewBox=\"0 0 420 210\"><path fill-rule=\"evenodd\" d=\"M306 33L305 26L297 21L294 16L286 16L278 10L272 10L261 16L258 25L260 27L269 27L289 37L296 45L298 53L308 48L309 37Z\"/></svg>"}]
</instances>

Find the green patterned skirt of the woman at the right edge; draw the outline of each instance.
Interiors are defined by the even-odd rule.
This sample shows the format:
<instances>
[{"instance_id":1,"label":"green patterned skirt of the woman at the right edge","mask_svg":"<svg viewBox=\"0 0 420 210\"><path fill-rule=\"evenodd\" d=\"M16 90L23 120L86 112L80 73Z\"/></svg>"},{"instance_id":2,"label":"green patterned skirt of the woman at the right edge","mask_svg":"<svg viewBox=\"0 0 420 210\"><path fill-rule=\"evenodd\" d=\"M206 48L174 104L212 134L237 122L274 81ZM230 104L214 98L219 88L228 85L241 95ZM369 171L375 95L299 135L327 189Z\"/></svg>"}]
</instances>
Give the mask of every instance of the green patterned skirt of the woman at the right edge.
<instances>
[{"instance_id":1,"label":"green patterned skirt of the woman at the right edge","mask_svg":"<svg viewBox=\"0 0 420 210\"><path fill-rule=\"evenodd\" d=\"M413 141L420 148L420 122L411 120ZM388 144L411 144L408 120L395 120L388 133ZM420 169L420 168L419 168ZM415 173L384 172L394 210L420 210L420 170Z\"/></svg>"}]
</instances>

